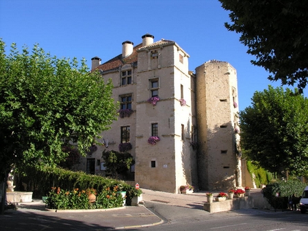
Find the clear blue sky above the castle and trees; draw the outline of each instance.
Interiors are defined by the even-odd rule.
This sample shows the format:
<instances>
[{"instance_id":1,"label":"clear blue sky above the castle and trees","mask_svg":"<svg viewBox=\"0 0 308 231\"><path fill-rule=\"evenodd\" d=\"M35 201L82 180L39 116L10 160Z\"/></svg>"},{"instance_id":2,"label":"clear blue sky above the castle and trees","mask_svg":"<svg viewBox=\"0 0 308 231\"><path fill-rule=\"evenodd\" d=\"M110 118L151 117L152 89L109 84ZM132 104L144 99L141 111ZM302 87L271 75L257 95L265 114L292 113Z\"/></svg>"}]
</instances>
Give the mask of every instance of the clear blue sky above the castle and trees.
<instances>
[{"instance_id":1,"label":"clear blue sky above the castle and trees","mask_svg":"<svg viewBox=\"0 0 308 231\"><path fill-rule=\"evenodd\" d=\"M102 63L122 52L122 42L134 45L151 33L154 42L174 40L190 58L189 68L210 59L229 62L238 71L239 107L251 105L255 91L279 82L250 62L253 56L227 31L229 12L217 0L0 0L0 38L18 48L38 43L57 57L91 58ZM306 91L305 91L306 92Z\"/></svg>"}]
</instances>

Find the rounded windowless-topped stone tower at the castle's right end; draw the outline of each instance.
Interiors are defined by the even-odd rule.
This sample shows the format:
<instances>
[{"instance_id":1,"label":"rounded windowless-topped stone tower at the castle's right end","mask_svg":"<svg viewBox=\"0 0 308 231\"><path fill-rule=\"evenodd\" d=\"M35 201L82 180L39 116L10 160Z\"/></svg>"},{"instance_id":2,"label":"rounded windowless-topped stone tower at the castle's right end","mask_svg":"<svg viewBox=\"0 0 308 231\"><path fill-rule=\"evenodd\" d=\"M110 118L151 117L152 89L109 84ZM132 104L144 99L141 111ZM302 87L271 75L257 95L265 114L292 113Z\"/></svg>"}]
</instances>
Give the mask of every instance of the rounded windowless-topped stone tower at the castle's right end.
<instances>
[{"instance_id":1,"label":"rounded windowless-topped stone tower at the castle's right end","mask_svg":"<svg viewBox=\"0 0 308 231\"><path fill-rule=\"evenodd\" d=\"M241 186L235 150L238 105L235 69L227 62L207 62L196 68L198 169L201 189Z\"/></svg>"}]
</instances>

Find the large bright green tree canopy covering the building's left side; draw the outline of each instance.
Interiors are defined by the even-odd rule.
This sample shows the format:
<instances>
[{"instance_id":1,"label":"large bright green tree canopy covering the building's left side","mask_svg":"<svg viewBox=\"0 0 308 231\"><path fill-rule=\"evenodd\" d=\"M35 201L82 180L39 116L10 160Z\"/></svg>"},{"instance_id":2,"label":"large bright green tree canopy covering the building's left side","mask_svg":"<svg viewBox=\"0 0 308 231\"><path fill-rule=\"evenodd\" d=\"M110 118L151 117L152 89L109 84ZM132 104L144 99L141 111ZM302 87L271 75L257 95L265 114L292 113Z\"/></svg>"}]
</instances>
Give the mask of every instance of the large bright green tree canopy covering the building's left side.
<instances>
[{"instance_id":1,"label":"large bright green tree canopy covering the building's left side","mask_svg":"<svg viewBox=\"0 0 308 231\"><path fill-rule=\"evenodd\" d=\"M58 59L38 44L31 53L0 40L0 169L53 165L68 144L85 154L116 120L112 81L89 72L85 60Z\"/></svg>"}]
</instances>

